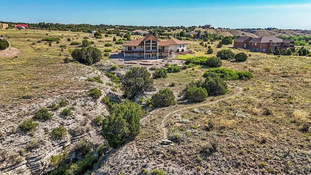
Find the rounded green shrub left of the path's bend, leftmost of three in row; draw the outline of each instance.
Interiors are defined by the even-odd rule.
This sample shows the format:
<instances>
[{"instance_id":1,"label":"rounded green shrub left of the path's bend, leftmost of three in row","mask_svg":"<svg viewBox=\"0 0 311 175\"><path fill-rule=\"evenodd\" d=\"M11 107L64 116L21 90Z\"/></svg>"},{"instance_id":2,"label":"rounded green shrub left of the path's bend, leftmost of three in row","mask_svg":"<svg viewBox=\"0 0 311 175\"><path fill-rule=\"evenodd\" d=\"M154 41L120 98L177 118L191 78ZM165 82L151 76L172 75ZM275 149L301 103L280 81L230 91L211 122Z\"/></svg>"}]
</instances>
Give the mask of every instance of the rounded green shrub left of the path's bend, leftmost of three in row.
<instances>
[{"instance_id":1,"label":"rounded green shrub left of the path's bend, leftmost of three in row","mask_svg":"<svg viewBox=\"0 0 311 175\"><path fill-rule=\"evenodd\" d=\"M169 88L164 88L159 90L159 92L155 93L151 97L152 105L156 107L166 107L170 105L176 105L176 100L174 93Z\"/></svg>"}]
</instances>

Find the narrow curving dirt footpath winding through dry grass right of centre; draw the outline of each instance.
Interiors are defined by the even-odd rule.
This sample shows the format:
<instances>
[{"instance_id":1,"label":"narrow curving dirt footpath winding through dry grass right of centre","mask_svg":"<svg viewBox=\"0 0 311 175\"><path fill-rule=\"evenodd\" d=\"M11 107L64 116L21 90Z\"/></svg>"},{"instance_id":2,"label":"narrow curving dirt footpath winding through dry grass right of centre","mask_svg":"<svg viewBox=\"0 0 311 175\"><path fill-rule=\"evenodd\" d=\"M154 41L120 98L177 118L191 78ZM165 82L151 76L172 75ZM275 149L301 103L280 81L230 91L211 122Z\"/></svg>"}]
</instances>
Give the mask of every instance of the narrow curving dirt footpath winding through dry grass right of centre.
<instances>
[{"instance_id":1,"label":"narrow curving dirt footpath winding through dry grass right of centre","mask_svg":"<svg viewBox=\"0 0 311 175\"><path fill-rule=\"evenodd\" d=\"M221 98L219 100L216 100L216 101L212 101L212 102L208 102L208 103L202 103L202 104L196 104L196 105L190 105L190 106L187 106L185 108L181 108L181 109L178 109L178 110L175 110L175 111L172 111L170 113L168 113L167 115L165 115L162 119L162 122L161 122L161 125L160 125L160 130L162 131L162 137L164 140L167 140L167 134L168 134L168 128L165 127L165 121L166 119L169 117L169 116L172 116L173 114L177 113L177 112L180 112L180 111L183 111L183 110L186 110L186 109L190 109L190 108L194 108L194 107L200 107L200 106L204 106L204 105L210 105L210 104L214 104L214 103L218 103L218 102L221 102L221 101L224 101L226 99L229 99L231 97L235 97L237 95L239 95L240 93L242 93L242 88L238 87L238 92L233 94L233 95L229 95L227 97L224 97L224 98Z\"/></svg>"}]
</instances>

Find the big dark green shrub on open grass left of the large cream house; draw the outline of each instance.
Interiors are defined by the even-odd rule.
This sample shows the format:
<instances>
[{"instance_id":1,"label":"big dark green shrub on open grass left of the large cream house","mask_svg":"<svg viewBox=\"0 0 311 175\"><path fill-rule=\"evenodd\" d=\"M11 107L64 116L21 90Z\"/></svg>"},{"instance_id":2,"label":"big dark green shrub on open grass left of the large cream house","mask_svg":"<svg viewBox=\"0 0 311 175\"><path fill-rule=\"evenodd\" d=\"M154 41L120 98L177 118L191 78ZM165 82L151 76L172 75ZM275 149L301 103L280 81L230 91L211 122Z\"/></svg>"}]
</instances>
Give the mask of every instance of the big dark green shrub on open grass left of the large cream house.
<instances>
[{"instance_id":1,"label":"big dark green shrub on open grass left of the large cream house","mask_svg":"<svg viewBox=\"0 0 311 175\"><path fill-rule=\"evenodd\" d=\"M102 53L99 49L94 47L83 47L82 49L75 49L71 56L74 60L85 65L91 65L99 62L102 59Z\"/></svg>"}]
</instances>

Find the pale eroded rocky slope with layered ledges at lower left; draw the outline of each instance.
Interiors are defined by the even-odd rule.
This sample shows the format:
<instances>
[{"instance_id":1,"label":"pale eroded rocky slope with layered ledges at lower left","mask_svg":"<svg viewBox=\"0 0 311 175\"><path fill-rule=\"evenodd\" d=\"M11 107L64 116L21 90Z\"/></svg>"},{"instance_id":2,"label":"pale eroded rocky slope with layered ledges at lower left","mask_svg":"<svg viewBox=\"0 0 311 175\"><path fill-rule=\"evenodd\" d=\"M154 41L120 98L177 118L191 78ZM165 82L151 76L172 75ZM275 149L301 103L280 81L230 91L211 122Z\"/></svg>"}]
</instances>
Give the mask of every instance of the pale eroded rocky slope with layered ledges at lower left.
<instances>
[{"instance_id":1,"label":"pale eroded rocky slope with layered ledges at lower left","mask_svg":"<svg viewBox=\"0 0 311 175\"><path fill-rule=\"evenodd\" d=\"M102 80L107 83L110 80L98 72ZM86 77L78 77L86 79ZM104 84L87 82L88 87L96 87L103 94L110 91L110 87ZM103 96L104 96L103 95ZM51 157L60 155L66 150L68 159L75 157L74 150L80 140L88 140L94 147L104 143L101 136L101 127L94 123L97 116L105 116L108 111L101 102L102 98L93 100L88 95L88 90L71 91L65 95L36 101L32 104L18 106L12 110L0 110L0 175L42 175L54 169L51 165ZM68 105L52 110L52 120L39 123L34 132L20 131L18 125L26 119L34 116L41 107L49 107L61 100ZM68 108L72 111L69 117L63 117L61 111ZM61 140L53 140L51 132L53 128L64 126L66 136Z\"/></svg>"}]
</instances>

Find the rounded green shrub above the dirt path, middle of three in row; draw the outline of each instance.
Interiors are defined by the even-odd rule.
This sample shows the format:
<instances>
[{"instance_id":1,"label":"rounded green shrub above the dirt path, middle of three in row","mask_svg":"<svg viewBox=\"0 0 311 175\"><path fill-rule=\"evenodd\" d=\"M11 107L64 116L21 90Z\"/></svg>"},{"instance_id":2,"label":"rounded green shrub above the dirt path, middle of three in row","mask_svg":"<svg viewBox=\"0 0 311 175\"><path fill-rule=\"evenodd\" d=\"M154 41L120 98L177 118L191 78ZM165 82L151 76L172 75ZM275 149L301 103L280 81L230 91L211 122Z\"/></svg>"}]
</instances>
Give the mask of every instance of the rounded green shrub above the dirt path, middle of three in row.
<instances>
[{"instance_id":1,"label":"rounded green shrub above the dirt path, middle of three in row","mask_svg":"<svg viewBox=\"0 0 311 175\"><path fill-rule=\"evenodd\" d=\"M206 88L192 86L186 91L186 98L190 102L203 102L207 98Z\"/></svg>"}]
</instances>

